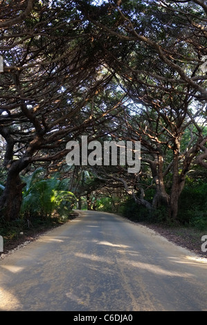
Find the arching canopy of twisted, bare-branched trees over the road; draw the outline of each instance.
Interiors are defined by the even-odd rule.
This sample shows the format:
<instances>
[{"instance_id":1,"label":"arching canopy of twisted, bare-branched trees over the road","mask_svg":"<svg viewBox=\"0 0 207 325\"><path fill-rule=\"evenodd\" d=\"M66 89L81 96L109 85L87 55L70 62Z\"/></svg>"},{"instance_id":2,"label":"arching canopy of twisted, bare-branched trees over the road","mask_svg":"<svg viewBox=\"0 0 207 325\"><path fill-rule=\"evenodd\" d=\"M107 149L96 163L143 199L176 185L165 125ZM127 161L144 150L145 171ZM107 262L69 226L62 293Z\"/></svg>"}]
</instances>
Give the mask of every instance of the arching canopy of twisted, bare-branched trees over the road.
<instances>
[{"instance_id":1,"label":"arching canopy of twisted, bare-branched trees over the road","mask_svg":"<svg viewBox=\"0 0 207 325\"><path fill-rule=\"evenodd\" d=\"M177 220L190 172L207 168L206 13L201 0L1 1L4 219L19 216L23 176L44 167L77 197L118 189ZM81 136L140 141L141 170L68 167Z\"/></svg>"}]
</instances>

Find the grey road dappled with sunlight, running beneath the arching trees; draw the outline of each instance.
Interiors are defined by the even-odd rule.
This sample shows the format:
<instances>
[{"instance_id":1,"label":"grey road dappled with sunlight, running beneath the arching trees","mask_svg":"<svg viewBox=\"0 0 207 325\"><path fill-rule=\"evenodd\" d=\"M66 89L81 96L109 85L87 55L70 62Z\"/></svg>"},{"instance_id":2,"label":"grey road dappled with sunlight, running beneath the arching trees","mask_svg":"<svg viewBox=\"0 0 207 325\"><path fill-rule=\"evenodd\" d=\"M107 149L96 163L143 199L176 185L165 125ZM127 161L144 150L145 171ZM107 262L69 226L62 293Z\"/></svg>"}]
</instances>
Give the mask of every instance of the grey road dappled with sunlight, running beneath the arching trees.
<instances>
[{"instance_id":1,"label":"grey road dappled with sunlight, running beneath the arching trees","mask_svg":"<svg viewBox=\"0 0 207 325\"><path fill-rule=\"evenodd\" d=\"M80 216L0 261L0 310L207 310L207 262L114 214Z\"/></svg>"}]
</instances>

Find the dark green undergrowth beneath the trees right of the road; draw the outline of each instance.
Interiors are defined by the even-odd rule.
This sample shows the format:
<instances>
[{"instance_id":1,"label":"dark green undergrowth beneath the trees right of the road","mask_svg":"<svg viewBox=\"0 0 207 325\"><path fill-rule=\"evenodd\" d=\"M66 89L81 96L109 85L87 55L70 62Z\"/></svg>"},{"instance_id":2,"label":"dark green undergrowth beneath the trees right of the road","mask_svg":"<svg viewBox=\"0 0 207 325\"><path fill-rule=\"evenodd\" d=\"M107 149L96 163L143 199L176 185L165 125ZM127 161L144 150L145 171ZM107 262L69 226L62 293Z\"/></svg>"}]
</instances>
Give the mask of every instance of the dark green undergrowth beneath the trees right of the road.
<instances>
[{"instance_id":1,"label":"dark green undergrowth beneath the trees right of the road","mask_svg":"<svg viewBox=\"0 0 207 325\"><path fill-rule=\"evenodd\" d=\"M128 199L120 205L119 212L136 222L163 224L195 228L207 231L207 183L203 180L188 180L179 200L179 214L176 220L168 219L168 208L161 206L150 213L145 207L137 206Z\"/></svg>"}]
</instances>

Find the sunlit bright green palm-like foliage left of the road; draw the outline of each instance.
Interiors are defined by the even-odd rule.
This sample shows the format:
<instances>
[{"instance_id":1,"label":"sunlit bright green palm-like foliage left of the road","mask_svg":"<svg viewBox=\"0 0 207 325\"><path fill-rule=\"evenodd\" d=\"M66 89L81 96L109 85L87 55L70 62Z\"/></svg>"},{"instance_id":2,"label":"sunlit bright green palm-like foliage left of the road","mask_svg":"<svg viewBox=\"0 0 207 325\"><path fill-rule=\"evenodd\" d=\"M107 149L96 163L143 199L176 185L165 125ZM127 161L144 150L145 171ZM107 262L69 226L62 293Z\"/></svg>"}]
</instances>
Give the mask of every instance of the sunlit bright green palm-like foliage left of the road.
<instances>
[{"instance_id":1,"label":"sunlit bright green palm-like foliage left of the road","mask_svg":"<svg viewBox=\"0 0 207 325\"><path fill-rule=\"evenodd\" d=\"M21 216L37 216L43 219L58 216L65 219L71 212L76 198L68 191L68 180L60 180L57 174L44 178L43 169L37 169L24 177L26 187L23 192Z\"/></svg>"}]
</instances>

